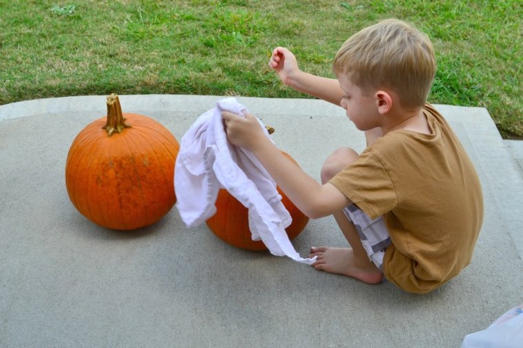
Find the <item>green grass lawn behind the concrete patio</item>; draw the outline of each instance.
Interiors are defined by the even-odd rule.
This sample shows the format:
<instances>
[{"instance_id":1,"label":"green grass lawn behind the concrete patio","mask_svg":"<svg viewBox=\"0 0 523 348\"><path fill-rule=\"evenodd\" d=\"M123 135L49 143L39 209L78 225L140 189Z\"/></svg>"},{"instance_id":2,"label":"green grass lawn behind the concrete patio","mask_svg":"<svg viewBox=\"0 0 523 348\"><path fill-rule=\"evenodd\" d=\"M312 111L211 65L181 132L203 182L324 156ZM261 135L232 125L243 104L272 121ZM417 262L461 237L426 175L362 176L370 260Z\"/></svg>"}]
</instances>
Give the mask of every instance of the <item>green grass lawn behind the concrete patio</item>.
<instances>
[{"instance_id":1,"label":"green grass lawn behind the concrete patio","mask_svg":"<svg viewBox=\"0 0 523 348\"><path fill-rule=\"evenodd\" d=\"M438 72L429 101L486 107L523 139L520 0L0 0L0 104L85 94L306 98L267 66L289 47L332 76L351 34L398 18L426 32Z\"/></svg>"}]
</instances>

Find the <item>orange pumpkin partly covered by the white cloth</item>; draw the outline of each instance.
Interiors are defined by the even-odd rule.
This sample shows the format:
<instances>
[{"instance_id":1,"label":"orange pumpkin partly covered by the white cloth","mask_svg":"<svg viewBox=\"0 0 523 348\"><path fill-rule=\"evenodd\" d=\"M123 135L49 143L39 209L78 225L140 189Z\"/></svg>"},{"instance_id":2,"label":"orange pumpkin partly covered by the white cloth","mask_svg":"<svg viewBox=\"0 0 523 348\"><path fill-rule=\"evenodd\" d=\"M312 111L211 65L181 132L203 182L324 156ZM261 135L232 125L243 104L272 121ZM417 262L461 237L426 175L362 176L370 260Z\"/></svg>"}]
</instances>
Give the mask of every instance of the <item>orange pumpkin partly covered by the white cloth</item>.
<instances>
[{"instance_id":1,"label":"orange pumpkin partly covered by the white cloth","mask_svg":"<svg viewBox=\"0 0 523 348\"><path fill-rule=\"evenodd\" d=\"M282 151L283 152L283 151ZM297 162L283 152L289 160ZM289 239L297 237L308 224L309 218L292 203L284 193L277 188L281 202L292 217L292 224L286 228ZM206 221L211 231L226 243L247 250L267 250L263 241L253 241L248 226L248 209L243 206L228 191L222 189L216 199L217 211Z\"/></svg>"}]
</instances>

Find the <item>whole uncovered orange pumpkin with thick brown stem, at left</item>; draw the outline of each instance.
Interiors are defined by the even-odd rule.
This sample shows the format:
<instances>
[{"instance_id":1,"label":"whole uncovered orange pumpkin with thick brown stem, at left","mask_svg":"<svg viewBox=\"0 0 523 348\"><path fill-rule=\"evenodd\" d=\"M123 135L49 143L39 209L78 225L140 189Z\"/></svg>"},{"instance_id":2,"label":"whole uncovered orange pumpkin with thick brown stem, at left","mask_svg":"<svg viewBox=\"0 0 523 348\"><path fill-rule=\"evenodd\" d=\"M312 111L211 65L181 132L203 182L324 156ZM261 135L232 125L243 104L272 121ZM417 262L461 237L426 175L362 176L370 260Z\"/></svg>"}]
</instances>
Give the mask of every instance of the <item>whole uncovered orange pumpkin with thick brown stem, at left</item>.
<instances>
[{"instance_id":1,"label":"whole uncovered orange pumpkin with thick brown stem, at left","mask_svg":"<svg viewBox=\"0 0 523 348\"><path fill-rule=\"evenodd\" d=\"M129 122L129 123L127 123ZM74 139L65 164L72 204L95 224L134 230L162 218L176 202L174 163L180 145L162 124L122 113L107 97L107 118Z\"/></svg>"}]
</instances>

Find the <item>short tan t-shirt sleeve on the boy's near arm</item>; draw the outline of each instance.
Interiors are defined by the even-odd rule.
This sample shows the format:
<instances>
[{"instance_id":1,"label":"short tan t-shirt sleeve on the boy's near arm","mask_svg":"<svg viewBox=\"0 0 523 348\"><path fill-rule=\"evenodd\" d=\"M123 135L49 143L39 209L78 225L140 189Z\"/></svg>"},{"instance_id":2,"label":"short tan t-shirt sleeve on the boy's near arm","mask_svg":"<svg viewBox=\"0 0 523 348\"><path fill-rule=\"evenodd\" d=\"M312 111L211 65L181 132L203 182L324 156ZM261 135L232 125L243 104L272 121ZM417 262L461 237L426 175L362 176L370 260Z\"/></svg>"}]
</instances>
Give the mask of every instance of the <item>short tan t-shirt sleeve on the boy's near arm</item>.
<instances>
[{"instance_id":1,"label":"short tan t-shirt sleeve on the boy's near arm","mask_svg":"<svg viewBox=\"0 0 523 348\"><path fill-rule=\"evenodd\" d=\"M376 219L397 206L398 195L388 168L370 149L363 151L354 163L335 175L330 183L371 219Z\"/></svg>"}]
</instances>

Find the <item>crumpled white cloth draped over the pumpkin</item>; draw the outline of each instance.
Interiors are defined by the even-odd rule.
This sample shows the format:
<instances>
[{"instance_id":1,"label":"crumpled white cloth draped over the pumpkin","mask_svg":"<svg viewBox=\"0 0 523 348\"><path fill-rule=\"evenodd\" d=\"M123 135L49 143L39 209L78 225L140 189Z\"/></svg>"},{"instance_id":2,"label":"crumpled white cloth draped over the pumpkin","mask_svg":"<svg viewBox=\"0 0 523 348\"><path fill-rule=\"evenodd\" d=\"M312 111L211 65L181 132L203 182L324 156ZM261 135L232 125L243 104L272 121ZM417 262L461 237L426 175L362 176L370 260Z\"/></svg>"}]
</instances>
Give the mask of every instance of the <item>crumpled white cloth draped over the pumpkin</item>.
<instances>
[{"instance_id":1,"label":"crumpled white cloth draped over the pumpkin","mask_svg":"<svg viewBox=\"0 0 523 348\"><path fill-rule=\"evenodd\" d=\"M243 116L246 108L235 98L219 100L182 137L174 175L180 217L187 227L202 224L216 213L218 191L226 188L248 208L253 240L261 239L273 255L312 264L315 257L301 258L290 243L285 228L292 218L281 203L272 177L251 151L228 142L222 111ZM258 122L269 136L261 121Z\"/></svg>"}]
</instances>

